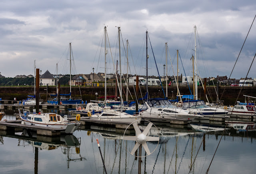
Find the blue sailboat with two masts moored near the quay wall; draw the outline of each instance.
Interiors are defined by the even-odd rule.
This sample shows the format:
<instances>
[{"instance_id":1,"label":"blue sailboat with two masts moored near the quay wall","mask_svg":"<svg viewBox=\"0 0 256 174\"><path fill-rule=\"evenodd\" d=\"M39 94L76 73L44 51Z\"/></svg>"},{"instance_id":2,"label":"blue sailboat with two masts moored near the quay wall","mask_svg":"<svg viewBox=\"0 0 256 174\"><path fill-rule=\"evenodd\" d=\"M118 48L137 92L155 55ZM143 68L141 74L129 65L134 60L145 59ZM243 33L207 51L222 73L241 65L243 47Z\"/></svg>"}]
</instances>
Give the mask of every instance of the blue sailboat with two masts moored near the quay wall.
<instances>
[{"instance_id":1,"label":"blue sailboat with two masts moored near the quay wall","mask_svg":"<svg viewBox=\"0 0 256 174\"><path fill-rule=\"evenodd\" d=\"M72 98L71 97L71 43L69 43L69 51L70 51L70 93L69 94L60 94L60 104L80 104L82 101L81 97L76 97L76 98ZM56 81L56 86L58 84L58 64L57 64L57 81ZM56 97L54 99L51 100L51 97ZM50 95L49 100L47 101L47 103L50 104L56 104L58 102L58 87L57 87L57 94L54 95Z\"/></svg>"}]
</instances>

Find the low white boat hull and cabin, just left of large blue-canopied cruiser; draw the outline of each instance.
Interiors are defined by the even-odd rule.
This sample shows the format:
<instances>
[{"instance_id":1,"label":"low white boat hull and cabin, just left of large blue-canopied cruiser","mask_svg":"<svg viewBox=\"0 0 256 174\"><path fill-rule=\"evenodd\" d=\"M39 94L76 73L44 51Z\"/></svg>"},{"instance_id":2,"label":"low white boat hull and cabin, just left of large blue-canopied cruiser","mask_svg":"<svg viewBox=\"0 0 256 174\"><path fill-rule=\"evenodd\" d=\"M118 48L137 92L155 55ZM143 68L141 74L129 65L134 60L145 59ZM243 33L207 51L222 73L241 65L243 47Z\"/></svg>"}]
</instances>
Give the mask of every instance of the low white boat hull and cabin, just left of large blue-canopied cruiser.
<instances>
[{"instance_id":1,"label":"low white boat hull and cabin, just left of large blue-canopied cruiser","mask_svg":"<svg viewBox=\"0 0 256 174\"><path fill-rule=\"evenodd\" d=\"M113 109L104 109L102 113L96 113L94 115L90 115L91 120L102 120L102 121L114 121L114 122L125 122L132 123L137 120L141 120L140 116L130 115L125 112L116 111Z\"/></svg>"}]
</instances>

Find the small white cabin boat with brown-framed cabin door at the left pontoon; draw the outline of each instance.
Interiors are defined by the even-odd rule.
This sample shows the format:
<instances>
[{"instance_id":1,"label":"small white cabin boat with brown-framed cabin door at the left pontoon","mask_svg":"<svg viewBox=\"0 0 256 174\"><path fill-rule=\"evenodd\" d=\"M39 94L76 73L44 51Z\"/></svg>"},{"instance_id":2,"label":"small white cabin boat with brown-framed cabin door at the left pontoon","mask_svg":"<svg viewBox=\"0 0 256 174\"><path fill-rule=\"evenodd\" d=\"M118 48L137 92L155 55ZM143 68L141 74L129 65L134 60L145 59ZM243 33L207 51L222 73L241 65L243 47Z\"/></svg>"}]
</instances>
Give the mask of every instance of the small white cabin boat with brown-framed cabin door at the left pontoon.
<instances>
[{"instance_id":1,"label":"small white cabin boat with brown-framed cabin door at the left pontoon","mask_svg":"<svg viewBox=\"0 0 256 174\"><path fill-rule=\"evenodd\" d=\"M30 113L27 109L18 109L22 124L64 129L61 133L72 134L80 123L64 119L56 113Z\"/></svg>"}]
</instances>

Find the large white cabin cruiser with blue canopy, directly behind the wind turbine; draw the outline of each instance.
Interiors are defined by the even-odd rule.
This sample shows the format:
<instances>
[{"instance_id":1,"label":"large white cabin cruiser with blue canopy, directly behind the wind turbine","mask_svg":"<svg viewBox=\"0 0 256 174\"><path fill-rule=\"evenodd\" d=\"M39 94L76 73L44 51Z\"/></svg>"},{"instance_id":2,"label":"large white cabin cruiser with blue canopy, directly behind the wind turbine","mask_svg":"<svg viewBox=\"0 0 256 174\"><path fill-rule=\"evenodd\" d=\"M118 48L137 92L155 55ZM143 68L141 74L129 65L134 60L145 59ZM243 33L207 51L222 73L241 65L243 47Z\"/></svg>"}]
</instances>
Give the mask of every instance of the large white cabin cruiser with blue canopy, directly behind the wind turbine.
<instances>
[{"instance_id":1,"label":"large white cabin cruiser with blue canopy, directly behind the wind turbine","mask_svg":"<svg viewBox=\"0 0 256 174\"><path fill-rule=\"evenodd\" d=\"M139 113L143 117L153 118L178 118L192 121L195 118L203 117L202 115L196 115L190 111L177 108L173 106L169 100L163 98L152 98L146 101Z\"/></svg>"}]
</instances>

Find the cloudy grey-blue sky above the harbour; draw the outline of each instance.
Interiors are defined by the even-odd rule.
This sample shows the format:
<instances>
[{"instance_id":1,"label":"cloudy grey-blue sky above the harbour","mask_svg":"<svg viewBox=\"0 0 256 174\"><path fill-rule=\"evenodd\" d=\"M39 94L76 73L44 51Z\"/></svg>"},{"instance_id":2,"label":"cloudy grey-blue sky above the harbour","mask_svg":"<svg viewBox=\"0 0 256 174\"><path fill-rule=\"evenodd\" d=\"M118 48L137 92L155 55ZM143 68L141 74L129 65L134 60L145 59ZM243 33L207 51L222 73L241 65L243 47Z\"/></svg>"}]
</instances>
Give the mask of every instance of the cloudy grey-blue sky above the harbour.
<instances>
[{"instance_id":1,"label":"cloudy grey-blue sky above the harbour","mask_svg":"<svg viewBox=\"0 0 256 174\"><path fill-rule=\"evenodd\" d=\"M104 26L107 26L107 73L114 71L119 60L118 28L121 45L129 41L129 74L146 75L146 30L160 76L168 43L168 74L177 73L176 50L180 73L192 75L194 25L197 27L197 67L201 77L230 76L234 63L254 19L253 0L2 0L0 2L0 72L3 76L34 74L33 66L42 73L69 72L67 53L72 43L75 69L72 74L104 72ZM256 21L255 21L256 22ZM256 53L256 23L248 35L231 78L246 76ZM199 42L200 41L200 42ZM123 42L123 43L122 43ZM103 44L103 45L102 45ZM151 46L148 46L148 74L157 75ZM126 73L124 49L121 51L122 72ZM255 63L249 77L256 77ZM119 68L118 68L119 69Z\"/></svg>"}]
</instances>

